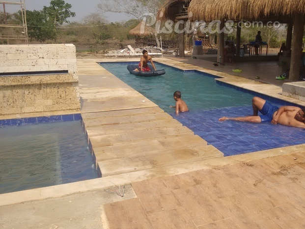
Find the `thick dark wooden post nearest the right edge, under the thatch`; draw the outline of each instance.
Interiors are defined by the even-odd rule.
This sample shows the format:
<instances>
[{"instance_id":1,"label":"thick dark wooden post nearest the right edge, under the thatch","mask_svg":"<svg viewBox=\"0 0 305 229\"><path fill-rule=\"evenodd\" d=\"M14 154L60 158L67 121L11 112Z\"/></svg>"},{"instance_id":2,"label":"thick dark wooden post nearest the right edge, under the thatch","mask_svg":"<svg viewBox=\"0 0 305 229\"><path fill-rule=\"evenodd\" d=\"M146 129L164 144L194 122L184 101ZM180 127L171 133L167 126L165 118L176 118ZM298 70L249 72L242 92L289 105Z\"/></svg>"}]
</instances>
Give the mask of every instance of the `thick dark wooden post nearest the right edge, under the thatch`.
<instances>
[{"instance_id":1,"label":"thick dark wooden post nearest the right edge, under the thatch","mask_svg":"<svg viewBox=\"0 0 305 229\"><path fill-rule=\"evenodd\" d=\"M302 40L304 32L304 14L295 13L293 17L292 50L289 80L298 81L300 77Z\"/></svg>"}]
</instances>

